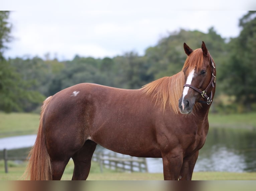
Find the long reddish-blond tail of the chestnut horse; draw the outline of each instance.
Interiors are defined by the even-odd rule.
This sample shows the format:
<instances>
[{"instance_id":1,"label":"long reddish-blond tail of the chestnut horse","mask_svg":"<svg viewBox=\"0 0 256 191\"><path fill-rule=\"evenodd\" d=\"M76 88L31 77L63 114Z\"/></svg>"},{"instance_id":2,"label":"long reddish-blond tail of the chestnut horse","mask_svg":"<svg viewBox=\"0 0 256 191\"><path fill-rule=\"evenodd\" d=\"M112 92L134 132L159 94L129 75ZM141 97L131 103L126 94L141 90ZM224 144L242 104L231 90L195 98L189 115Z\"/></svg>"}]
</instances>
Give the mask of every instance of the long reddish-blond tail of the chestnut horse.
<instances>
[{"instance_id":1,"label":"long reddish-blond tail of the chestnut horse","mask_svg":"<svg viewBox=\"0 0 256 191\"><path fill-rule=\"evenodd\" d=\"M40 123L35 144L28 154L28 165L24 176L30 180L52 180L52 166L46 149L43 133L43 114L52 96L46 98L41 107Z\"/></svg>"}]
</instances>

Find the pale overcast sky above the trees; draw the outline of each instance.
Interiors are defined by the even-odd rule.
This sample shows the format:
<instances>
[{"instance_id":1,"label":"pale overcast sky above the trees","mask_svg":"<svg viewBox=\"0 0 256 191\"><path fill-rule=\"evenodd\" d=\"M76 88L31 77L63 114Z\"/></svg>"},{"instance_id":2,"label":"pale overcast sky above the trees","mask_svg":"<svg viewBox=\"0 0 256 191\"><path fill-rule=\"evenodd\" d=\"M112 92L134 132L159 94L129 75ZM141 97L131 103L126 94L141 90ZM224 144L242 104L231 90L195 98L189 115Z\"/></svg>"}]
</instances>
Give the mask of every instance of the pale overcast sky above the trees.
<instances>
[{"instance_id":1,"label":"pale overcast sky above the trees","mask_svg":"<svg viewBox=\"0 0 256 191\"><path fill-rule=\"evenodd\" d=\"M49 53L50 58L72 60L75 55L104 58L130 51L143 55L180 29L208 33L214 27L228 39L239 35L239 19L248 12L243 10L255 5L253 0L0 0L2 10L12 10L13 40L4 56L45 58Z\"/></svg>"}]
</instances>

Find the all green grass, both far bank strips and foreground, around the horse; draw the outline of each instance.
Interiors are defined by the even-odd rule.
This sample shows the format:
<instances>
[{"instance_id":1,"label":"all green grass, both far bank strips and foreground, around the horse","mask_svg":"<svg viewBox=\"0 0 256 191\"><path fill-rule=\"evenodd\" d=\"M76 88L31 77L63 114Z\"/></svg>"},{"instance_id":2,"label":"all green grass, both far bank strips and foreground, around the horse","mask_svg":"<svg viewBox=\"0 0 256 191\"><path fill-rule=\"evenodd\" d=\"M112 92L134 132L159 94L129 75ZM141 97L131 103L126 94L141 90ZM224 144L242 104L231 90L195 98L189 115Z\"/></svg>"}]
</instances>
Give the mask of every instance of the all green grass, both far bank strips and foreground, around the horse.
<instances>
[{"instance_id":1,"label":"all green grass, both far bank strips and foreground, around the horse","mask_svg":"<svg viewBox=\"0 0 256 191\"><path fill-rule=\"evenodd\" d=\"M210 127L232 127L256 129L256 113L219 115L210 114ZM0 112L0 138L24 134L36 134L39 115L31 113L2 113ZM0 161L0 180L19 180L26 164L8 162L9 173L4 173L3 161ZM113 173L105 170L99 172L97 163L92 165L88 180L163 180L162 173ZM73 173L73 164L70 163L62 177L70 180ZM228 173L228 172L195 172L194 180L256 180L254 173Z\"/></svg>"}]
</instances>

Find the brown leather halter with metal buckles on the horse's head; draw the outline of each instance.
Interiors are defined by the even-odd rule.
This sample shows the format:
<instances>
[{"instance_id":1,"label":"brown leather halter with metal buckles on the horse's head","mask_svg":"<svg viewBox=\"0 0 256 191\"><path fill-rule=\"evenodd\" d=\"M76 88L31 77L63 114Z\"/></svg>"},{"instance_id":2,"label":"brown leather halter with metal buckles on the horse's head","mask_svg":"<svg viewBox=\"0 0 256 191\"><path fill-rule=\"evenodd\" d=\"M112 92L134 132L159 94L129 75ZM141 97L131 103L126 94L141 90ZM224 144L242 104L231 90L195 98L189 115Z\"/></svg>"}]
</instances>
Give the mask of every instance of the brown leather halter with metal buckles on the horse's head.
<instances>
[{"instance_id":1,"label":"brown leather halter with metal buckles on the horse's head","mask_svg":"<svg viewBox=\"0 0 256 191\"><path fill-rule=\"evenodd\" d=\"M199 90L198 88L196 88L196 87L194 87L194 86L191 86L191 85L189 85L189 84L184 84L184 86L183 86L183 88L184 88L185 86L187 86L187 87L192 88L192 89L194 89L195 91L199 92L199 93L202 95L203 98L206 98L206 101L200 100L199 102L200 102L200 103L207 103L208 105L210 105L211 102L212 102L213 89L212 89L212 91L211 91L210 97L207 95L207 91L208 91L208 89L209 89L211 86L214 88L215 83L216 83L216 76L214 75L214 73L215 73L215 70L214 70L214 69L215 69L215 64L214 64L214 62L213 62L213 59L212 59L211 55L210 55L210 59L211 59L211 63L212 63L212 79L211 79L209 85L206 87L206 89L205 89L204 91L201 91L201 90Z\"/></svg>"}]
</instances>

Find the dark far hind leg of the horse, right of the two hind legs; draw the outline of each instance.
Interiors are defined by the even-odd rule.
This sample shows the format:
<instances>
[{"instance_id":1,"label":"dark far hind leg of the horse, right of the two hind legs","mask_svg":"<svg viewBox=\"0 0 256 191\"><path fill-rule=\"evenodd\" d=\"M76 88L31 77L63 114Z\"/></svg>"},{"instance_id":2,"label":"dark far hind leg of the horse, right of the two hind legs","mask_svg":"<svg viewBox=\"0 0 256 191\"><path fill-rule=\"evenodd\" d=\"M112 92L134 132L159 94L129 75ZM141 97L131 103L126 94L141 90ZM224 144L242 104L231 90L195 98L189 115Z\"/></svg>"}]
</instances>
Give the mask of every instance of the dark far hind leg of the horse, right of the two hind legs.
<instances>
[{"instance_id":1,"label":"dark far hind leg of the horse, right of the two hind legs","mask_svg":"<svg viewBox=\"0 0 256 191\"><path fill-rule=\"evenodd\" d=\"M87 179L91 168L92 156L96 146L97 143L87 140L84 146L74 154L72 158L74 160L75 168L72 180Z\"/></svg>"}]
</instances>

